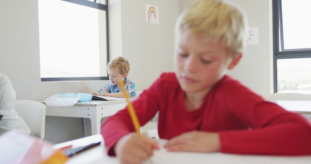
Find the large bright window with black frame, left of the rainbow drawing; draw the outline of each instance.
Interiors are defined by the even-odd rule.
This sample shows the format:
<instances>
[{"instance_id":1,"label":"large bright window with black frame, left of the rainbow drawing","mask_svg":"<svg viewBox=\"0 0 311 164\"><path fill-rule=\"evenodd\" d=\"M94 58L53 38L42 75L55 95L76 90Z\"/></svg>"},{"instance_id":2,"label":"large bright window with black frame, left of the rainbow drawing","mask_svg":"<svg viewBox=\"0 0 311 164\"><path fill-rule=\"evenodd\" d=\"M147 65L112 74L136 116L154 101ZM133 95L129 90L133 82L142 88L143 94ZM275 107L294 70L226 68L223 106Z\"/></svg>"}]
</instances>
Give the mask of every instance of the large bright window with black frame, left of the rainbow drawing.
<instances>
[{"instance_id":1,"label":"large bright window with black frame, left of the rainbow drawing","mask_svg":"<svg viewBox=\"0 0 311 164\"><path fill-rule=\"evenodd\" d=\"M108 0L38 0L41 81L109 80Z\"/></svg>"}]
</instances>

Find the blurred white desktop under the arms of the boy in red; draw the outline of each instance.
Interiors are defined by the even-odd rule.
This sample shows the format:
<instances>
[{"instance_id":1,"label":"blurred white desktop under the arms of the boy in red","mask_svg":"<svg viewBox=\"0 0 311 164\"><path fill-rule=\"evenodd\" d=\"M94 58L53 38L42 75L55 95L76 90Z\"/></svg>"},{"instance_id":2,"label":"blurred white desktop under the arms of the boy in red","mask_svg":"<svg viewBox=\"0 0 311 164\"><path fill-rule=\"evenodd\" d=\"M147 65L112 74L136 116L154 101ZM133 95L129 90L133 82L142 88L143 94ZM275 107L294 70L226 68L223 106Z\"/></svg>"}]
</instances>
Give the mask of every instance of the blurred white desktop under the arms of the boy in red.
<instances>
[{"instance_id":1,"label":"blurred white desktop under the arms of the boy in red","mask_svg":"<svg viewBox=\"0 0 311 164\"><path fill-rule=\"evenodd\" d=\"M53 148L62 148L64 146L73 145L85 146L90 143L102 141L100 146L96 146L77 154L69 159L66 164L117 164L119 163L117 158L109 157L104 147L103 138L100 134L93 135L81 139L76 139L64 143L59 143L53 146ZM160 147L165 143L165 140L160 140ZM164 148L159 151L155 150L153 157L146 164L206 164L206 163L218 163L218 164L310 164L311 156L262 156L262 155L236 155L225 153L189 153L189 152L166 152Z\"/></svg>"}]
</instances>

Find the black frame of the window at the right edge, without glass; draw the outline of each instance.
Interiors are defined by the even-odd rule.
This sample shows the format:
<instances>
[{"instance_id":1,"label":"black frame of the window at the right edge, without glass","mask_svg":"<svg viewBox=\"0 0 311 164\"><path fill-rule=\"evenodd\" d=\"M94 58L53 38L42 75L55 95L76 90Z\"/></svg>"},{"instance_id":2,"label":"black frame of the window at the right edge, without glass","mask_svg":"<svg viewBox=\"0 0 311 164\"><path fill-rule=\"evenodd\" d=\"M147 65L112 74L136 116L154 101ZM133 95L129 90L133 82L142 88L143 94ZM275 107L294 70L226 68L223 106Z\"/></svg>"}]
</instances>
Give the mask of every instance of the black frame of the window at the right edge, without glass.
<instances>
[{"instance_id":1,"label":"black frame of the window at the right edge, without glass","mask_svg":"<svg viewBox=\"0 0 311 164\"><path fill-rule=\"evenodd\" d=\"M273 88L277 92L277 60L311 58L311 48L284 49L282 0L272 0L272 26L273 26ZM281 39L281 42L280 42ZM280 45L281 43L281 45ZM280 49L281 47L281 49Z\"/></svg>"}]
</instances>

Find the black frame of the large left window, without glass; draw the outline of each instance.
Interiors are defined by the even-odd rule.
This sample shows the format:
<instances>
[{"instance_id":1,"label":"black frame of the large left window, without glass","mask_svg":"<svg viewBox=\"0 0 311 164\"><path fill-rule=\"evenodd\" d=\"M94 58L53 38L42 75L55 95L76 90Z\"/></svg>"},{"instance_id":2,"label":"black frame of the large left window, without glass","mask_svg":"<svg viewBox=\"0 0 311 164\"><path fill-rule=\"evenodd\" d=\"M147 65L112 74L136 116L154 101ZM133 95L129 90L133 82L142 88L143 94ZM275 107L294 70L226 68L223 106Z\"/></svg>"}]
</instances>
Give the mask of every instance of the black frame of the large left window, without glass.
<instances>
[{"instance_id":1,"label":"black frame of the large left window, without glass","mask_svg":"<svg viewBox=\"0 0 311 164\"><path fill-rule=\"evenodd\" d=\"M92 7L99 10L106 11L106 53L107 53L107 64L109 62L109 15L108 15L108 0L105 0L105 4L97 3L96 0L62 0L66 2L75 3L82 6ZM41 82L47 81L81 81L81 80L109 80L108 72L107 76L101 77L51 77L51 78L41 78Z\"/></svg>"}]
</instances>

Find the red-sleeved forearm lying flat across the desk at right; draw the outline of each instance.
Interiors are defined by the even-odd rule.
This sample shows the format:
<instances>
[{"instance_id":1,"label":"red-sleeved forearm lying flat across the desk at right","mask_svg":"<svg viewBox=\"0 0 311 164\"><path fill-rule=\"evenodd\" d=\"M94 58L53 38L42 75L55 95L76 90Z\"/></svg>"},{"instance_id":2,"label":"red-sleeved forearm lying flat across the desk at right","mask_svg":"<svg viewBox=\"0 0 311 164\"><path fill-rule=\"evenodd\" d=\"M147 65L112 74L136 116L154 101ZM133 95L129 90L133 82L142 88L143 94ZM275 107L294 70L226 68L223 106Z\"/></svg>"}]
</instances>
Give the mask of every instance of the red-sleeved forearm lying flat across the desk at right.
<instances>
[{"instance_id":1,"label":"red-sleeved forearm lying flat across the desk at right","mask_svg":"<svg viewBox=\"0 0 311 164\"><path fill-rule=\"evenodd\" d=\"M221 131L220 151L237 154L310 155L309 130L310 125L294 121L253 130Z\"/></svg>"}]
</instances>

